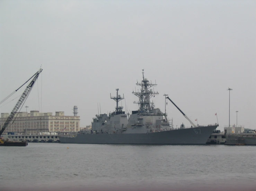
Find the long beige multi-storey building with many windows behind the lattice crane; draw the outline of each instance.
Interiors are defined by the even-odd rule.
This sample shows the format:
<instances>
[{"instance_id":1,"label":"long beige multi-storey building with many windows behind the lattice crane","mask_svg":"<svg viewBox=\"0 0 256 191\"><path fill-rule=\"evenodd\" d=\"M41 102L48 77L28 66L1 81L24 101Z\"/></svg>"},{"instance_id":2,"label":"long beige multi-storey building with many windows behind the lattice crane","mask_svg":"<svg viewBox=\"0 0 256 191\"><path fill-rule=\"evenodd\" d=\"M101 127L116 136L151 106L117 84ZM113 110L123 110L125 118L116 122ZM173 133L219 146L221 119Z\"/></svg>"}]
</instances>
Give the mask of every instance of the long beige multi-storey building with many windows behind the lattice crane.
<instances>
[{"instance_id":1,"label":"long beige multi-storey building with many windows behind the lattice crane","mask_svg":"<svg viewBox=\"0 0 256 191\"><path fill-rule=\"evenodd\" d=\"M9 113L1 113L0 125L6 122ZM79 116L65 116L64 111L39 113L39 111L18 112L5 130L15 133L77 132L80 131Z\"/></svg>"}]
</instances>

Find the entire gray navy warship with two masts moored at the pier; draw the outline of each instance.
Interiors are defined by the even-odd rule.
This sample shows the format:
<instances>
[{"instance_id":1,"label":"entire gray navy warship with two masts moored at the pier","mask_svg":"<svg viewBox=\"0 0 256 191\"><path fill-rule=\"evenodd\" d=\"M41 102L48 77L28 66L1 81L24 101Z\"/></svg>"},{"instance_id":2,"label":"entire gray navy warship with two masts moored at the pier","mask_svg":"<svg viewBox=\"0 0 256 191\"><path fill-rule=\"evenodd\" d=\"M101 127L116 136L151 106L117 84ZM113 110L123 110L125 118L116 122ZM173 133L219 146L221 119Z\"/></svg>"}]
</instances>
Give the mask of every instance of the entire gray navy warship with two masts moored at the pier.
<instances>
[{"instance_id":1,"label":"entire gray navy warship with two masts moored at the pier","mask_svg":"<svg viewBox=\"0 0 256 191\"><path fill-rule=\"evenodd\" d=\"M163 113L156 108L150 100L158 95L158 92L152 90L157 84L152 83L144 78L144 70L142 70L142 80L136 83L140 90L132 93L139 98L133 103L138 104L139 109L129 112L123 111L123 107L118 102L124 99L124 96L118 94L116 89L116 97L111 99L116 101L114 112L108 114L98 114L93 118L92 130L86 132L78 132L76 134L59 135L61 143L90 143L90 144L206 144L206 141L212 134L218 124L208 126L195 125L183 113L168 95L164 95L165 99L169 99L175 107L184 115L191 123L191 127L174 129L167 120L166 109Z\"/></svg>"}]
</instances>

